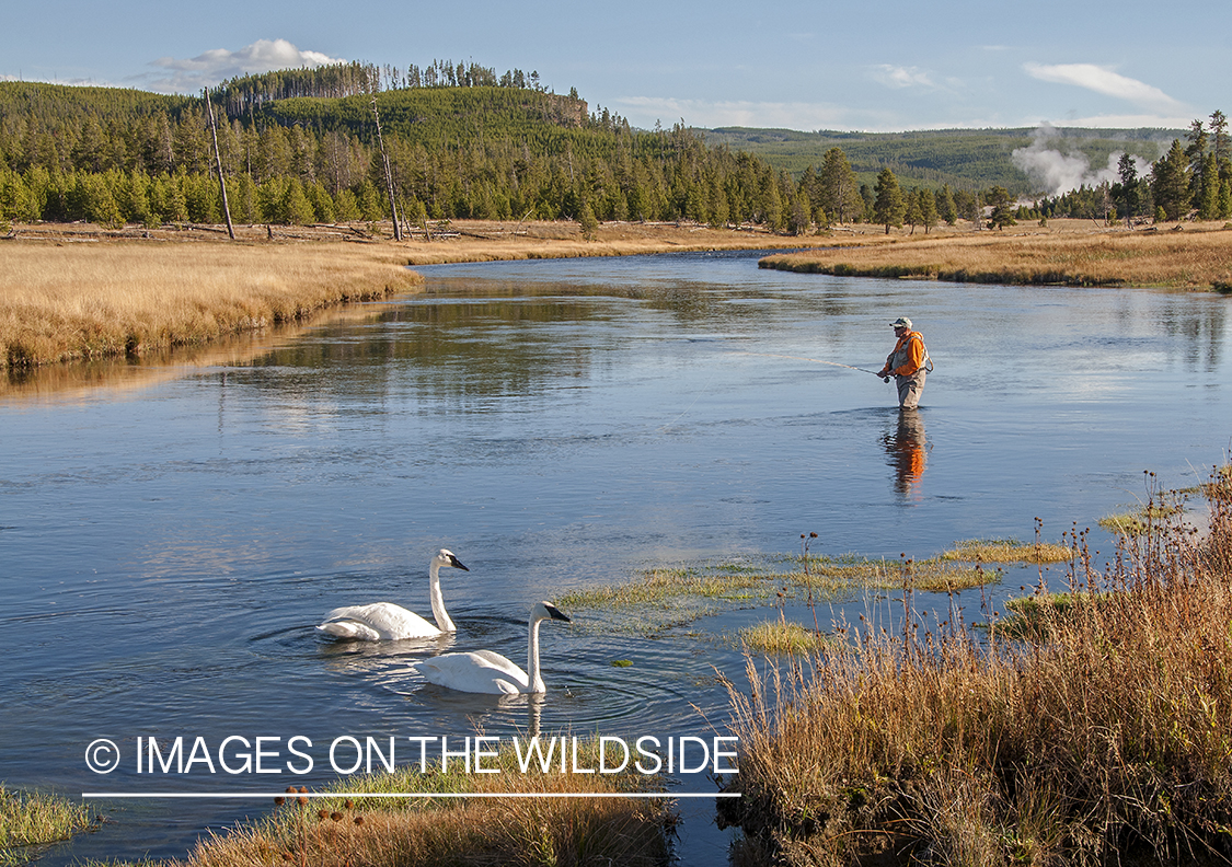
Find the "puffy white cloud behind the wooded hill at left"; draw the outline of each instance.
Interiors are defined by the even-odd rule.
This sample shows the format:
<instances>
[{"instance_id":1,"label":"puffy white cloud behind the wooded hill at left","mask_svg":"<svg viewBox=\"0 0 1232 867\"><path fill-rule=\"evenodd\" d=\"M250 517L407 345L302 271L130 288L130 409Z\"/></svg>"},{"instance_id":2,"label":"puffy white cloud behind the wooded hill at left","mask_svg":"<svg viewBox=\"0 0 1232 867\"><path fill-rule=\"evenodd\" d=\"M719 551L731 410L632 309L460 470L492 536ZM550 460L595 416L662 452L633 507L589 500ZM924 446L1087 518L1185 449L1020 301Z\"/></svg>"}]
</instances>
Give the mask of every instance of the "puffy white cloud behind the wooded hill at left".
<instances>
[{"instance_id":1,"label":"puffy white cloud behind the wooded hill at left","mask_svg":"<svg viewBox=\"0 0 1232 867\"><path fill-rule=\"evenodd\" d=\"M238 75L330 63L345 60L302 50L286 39L257 39L238 50L213 48L188 59L163 57L152 60L149 65L158 67L160 71L133 76L133 83L161 94L192 94Z\"/></svg>"}]
</instances>

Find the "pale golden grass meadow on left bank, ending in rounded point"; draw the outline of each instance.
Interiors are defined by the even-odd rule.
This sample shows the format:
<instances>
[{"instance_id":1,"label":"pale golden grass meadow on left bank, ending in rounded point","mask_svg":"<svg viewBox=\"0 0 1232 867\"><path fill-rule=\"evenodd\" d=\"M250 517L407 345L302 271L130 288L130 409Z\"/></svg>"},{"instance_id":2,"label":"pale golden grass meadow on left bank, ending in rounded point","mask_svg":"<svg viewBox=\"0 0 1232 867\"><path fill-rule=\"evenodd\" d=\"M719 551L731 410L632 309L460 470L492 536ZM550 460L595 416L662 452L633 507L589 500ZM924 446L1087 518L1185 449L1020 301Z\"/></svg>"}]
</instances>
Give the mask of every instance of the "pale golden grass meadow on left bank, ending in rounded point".
<instances>
[{"instance_id":1,"label":"pale golden grass meadow on left bank, ending in rounded point","mask_svg":"<svg viewBox=\"0 0 1232 867\"><path fill-rule=\"evenodd\" d=\"M0 365L202 345L419 280L384 246L10 243L0 245Z\"/></svg>"}]
</instances>

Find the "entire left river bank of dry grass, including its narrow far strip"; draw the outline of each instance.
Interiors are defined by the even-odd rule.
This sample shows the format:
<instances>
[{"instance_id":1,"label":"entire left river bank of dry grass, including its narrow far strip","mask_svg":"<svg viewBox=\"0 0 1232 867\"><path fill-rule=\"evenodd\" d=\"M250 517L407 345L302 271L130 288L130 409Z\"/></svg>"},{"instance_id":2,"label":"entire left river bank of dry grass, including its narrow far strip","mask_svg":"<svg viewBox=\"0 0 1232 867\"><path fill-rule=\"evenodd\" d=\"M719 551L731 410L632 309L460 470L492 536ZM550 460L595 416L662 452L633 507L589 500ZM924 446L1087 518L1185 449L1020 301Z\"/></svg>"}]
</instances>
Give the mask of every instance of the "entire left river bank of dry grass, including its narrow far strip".
<instances>
[{"instance_id":1,"label":"entire left river bank of dry grass, including its narrow far strip","mask_svg":"<svg viewBox=\"0 0 1232 867\"><path fill-rule=\"evenodd\" d=\"M801 248L818 238L700 225L388 224L106 229L18 225L0 244L0 368L138 357L299 321L326 307L414 291L407 266Z\"/></svg>"}]
</instances>

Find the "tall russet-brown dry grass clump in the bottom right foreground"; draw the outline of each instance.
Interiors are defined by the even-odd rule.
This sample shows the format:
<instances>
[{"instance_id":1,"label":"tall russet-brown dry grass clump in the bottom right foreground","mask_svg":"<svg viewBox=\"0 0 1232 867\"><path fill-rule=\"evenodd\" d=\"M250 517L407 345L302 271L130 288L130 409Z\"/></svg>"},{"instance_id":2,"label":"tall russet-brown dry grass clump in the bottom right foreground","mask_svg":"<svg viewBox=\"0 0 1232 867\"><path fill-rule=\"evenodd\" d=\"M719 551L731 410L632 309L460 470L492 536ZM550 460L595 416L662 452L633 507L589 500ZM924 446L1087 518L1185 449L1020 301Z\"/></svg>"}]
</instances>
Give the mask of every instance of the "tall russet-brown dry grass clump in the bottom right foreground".
<instances>
[{"instance_id":1,"label":"tall russet-brown dry grass clump in the bottom right foreground","mask_svg":"<svg viewBox=\"0 0 1232 867\"><path fill-rule=\"evenodd\" d=\"M1209 509L1206 536L1156 523L1103 573L1077 552L1027 638L926 631L904 591L899 627L750 663L722 802L745 860L1226 863L1232 500Z\"/></svg>"}]
</instances>

